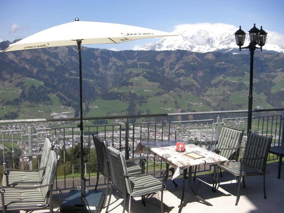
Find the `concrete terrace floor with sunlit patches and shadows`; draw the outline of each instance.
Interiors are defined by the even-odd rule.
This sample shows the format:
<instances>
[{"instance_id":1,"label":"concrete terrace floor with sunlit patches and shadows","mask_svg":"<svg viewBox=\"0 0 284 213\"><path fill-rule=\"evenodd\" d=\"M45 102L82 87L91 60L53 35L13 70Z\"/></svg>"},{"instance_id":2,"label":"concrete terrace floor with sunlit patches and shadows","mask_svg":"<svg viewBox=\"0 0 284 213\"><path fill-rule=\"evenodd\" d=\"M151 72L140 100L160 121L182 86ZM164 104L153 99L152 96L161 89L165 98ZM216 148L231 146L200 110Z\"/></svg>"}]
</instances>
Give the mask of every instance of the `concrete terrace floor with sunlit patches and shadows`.
<instances>
[{"instance_id":1,"label":"concrete terrace floor with sunlit patches and shadows","mask_svg":"<svg viewBox=\"0 0 284 213\"><path fill-rule=\"evenodd\" d=\"M267 164L266 167L266 195L263 195L263 177L251 176L246 177L246 188L241 185L240 201L238 206L235 206L237 194L237 182L234 176L223 172L223 177L219 177L221 185L216 193L212 192L213 175L198 175L197 180L193 182L194 191L202 198L210 202L213 206L207 206L188 191L188 184L186 185L185 199L182 212L283 212L284 211L284 168L281 171L281 179L277 179L278 162ZM187 180L188 181L188 180ZM68 183L68 181L67 181ZM71 182L72 183L72 182ZM181 193L182 193L182 179L176 179L178 187L175 187L171 180L168 180L167 190L164 191L164 212L178 212ZM187 182L188 183L188 182ZM68 184L69 185L69 184ZM67 186L68 187L68 186ZM93 187L88 187L92 189ZM105 187L100 187L100 190L105 190ZM114 191L114 190L113 190ZM59 210L60 204L67 196L68 191L63 191L62 194L53 195L53 208L55 211ZM146 206L141 204L141 197L132 198L131 212L161 212L159 194L151 194L146 197ZM115 193L111 197L110 212L122 212L123 199ZM105 208L101 212L105 212ZM128 210L128 202L127 208ZM48 210L41 210L35 212L48 212ZM58 211L59 212L59 211ZM127 211L126 211L127 212Z\"/></svg>"}]
</instances>

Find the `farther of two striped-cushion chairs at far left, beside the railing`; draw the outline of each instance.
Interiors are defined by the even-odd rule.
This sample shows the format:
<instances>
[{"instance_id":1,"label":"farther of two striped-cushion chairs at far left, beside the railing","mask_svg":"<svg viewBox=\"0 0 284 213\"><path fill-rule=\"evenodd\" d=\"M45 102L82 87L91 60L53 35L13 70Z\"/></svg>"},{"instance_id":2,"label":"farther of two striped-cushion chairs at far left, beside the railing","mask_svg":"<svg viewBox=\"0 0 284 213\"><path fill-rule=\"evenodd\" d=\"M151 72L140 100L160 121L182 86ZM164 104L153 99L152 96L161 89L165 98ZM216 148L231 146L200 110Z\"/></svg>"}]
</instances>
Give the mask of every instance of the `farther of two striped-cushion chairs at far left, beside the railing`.
<instances>
[{"instance_id":1,"label":"farther of two striped-cushion chairs at far left, beside the railing","mask_svg":"<svg viewBox=\"0 0 284 213\"><path fill-rule=\"evenodd\" d=\"M42 156L39 169L22 170L7 168L4 171L2 184L3 185L34 185L35 183L42 183L45 175L45 169L48 163L50 150L53 150L54 144L48 138L45 138L42 154L33 156ZM15 157L15 156L14 156ZM22 157L22 156L21 156ZM30 157L30 156L24 156Z\"/></svg>"}]
</instances>

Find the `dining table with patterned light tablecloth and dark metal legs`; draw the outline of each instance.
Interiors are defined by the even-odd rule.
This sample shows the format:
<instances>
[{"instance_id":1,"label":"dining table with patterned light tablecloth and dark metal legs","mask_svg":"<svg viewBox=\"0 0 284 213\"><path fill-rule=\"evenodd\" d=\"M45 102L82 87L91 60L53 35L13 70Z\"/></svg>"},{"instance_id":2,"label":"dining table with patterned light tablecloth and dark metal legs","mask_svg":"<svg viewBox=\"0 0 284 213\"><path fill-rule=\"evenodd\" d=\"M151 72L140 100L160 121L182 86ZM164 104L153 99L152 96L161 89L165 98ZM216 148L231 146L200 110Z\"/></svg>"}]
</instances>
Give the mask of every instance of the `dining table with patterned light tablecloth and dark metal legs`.
<instances>
[{"instance_id":1,"label":"dining table with patterned light tablecloth and dark metal legs","mask_svg":"<svg viewBox=\"0 0 284 213\"><path fill-rule=\"evenodd\" d=\"M190 144L185 142L185 151L178 152L176 151L176 144L180 140L163 140L163 141L141 141L135 149L135 153L141 154L152 154L156 158L161 158L163 162L166 162L166 178L169 176L169 166L174 171L172 175L172 181L175 178L183 175L183 191L181 197L181 204L179 207L179 213L181 213L183 208L183 199L185 194L185 181L188 179L188 185L190 192L198 199L201 200L204 204L212 206L209 202L198 196L192 189L191 176L192 176L192 166L197 166L201 164L210 164L214 165L216 169L216 164L224 164L228 161L227 158L218 155L210 150L197 146L195 144ZM197 156L193 157L192 156ZM190 157L189 157L190 156ZM188 173L188 177L187 177ZM215 183L215 181L214 181Z\"/></svg>"}]
</instances>

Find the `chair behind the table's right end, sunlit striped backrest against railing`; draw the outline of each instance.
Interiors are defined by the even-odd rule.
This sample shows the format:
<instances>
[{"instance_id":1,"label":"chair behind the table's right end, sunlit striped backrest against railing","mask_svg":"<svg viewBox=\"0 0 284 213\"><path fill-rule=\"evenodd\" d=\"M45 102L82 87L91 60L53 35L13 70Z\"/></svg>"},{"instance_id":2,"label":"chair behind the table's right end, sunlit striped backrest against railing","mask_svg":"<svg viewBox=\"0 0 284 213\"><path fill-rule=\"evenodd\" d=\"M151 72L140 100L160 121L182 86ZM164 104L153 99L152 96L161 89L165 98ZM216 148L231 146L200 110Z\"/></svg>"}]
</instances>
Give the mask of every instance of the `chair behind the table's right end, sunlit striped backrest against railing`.
<instances>
[{"instance_id":1,"label":"chair behind the table's right end, sunlit striped backrest against railing","mask_svg":"<svg viewBox=\"0 0 284 213\"><path fill-rule=\"evenodd\" d=\"M215 149L213 151L216 154L219 154L227 158L228 160L238 161L239 150L241 148L243 134L244 134L244 130L240 131L238 129L223 127L218 140L199 141L199 142L200 142L200 146L202 146L201 145L202 143L205 143L206 146L208 146L208 149L212 149L213 145L215 145ZM195 143L195 145L197 144L198 142ZM195 181L196 167L197 166L195 166L193 181ZM220 170L220 174L222 177L222 171L220 167L219 167L219 170Z\"/></svg>"}]
</instances>

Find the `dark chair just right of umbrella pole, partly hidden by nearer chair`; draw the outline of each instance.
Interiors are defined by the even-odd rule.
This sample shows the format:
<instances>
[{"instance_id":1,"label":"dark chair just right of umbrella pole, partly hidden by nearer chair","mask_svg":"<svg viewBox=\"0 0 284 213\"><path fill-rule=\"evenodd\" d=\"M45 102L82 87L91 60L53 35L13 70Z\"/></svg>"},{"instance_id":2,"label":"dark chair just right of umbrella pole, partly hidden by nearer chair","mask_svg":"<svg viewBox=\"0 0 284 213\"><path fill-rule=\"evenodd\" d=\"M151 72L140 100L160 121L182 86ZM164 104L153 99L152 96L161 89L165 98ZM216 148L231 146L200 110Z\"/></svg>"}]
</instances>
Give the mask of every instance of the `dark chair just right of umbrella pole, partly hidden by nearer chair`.
<instances>
[{"instance_id":1,"label":"dark chair just right of umbrella pole, partly hidden by nearer chair","mask_svg":"<svg viewBox=\"0 0 284 213\"><path fill-rule=\"evenodd\" d=\"M101 173L103 177L105 178L105 180L107 181L107 192L106 192L106 197L107 197L108 191L109 191L110 173L109 173L109 166L107 164L106 145L99 136L94 135L94 134L92 134L92 136L93 136L94 144L96 147L97 167L98 167L97 182L96 182L95 190L97 190L98 182L99 182L99 173ZM125 147L122 147L120 149L123 149L123 148ZM140 166L137 166L134 163L134 161L138 161L138 160L140 161ZM132 175L144 174L145 162L146 162L145 157L132 158L132 159L126 160L127 172Z\"/></svg>"}]
</instances>

